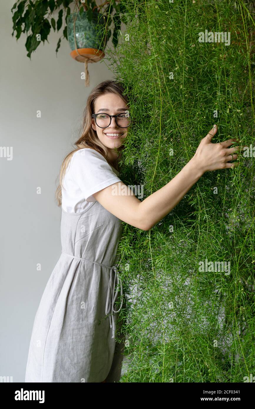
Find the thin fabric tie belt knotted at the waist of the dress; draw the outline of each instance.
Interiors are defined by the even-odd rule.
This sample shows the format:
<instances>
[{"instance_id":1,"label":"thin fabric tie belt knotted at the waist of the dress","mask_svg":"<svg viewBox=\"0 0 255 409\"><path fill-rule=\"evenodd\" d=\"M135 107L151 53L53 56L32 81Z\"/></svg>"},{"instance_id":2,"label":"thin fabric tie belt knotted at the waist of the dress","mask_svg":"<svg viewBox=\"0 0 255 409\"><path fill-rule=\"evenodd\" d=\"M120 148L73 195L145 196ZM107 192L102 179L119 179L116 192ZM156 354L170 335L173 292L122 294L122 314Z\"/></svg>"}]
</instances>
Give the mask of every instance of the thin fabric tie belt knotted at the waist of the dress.
<instances>
[{"instance_id":1,"label":"thin fabric tie belt knotted at the waist of the dress","mask_svg":"<svg viewBox=\"0 0 255 409\"><path fill-rule=\"evenodd\" d=\"M65 253L65 252L62 252L62 253L66 254L67 256L70 256L72 258L78 258L79 260L89 261L90 263L101 265L102 267L106 267L106 268L110 269L110 280L109 280L109 284L108 284L105 313L106 313L106 315L108 315L110 313L110 328L113 328L112 338L115 338L115 322L114 322L114 319L113 319L113 313L114 312L120 312L120 310L122 308L122 304L123 304L122 281L120 279L117 267L115 265L113 265L112 267L109 267L108 265L101 264L101 263L96 263L95 261L87 260L86 258L73 256L72 254L68 254L68 253ZM117 263L117 265L118 264L119 263ZM114 271L114 279L113 279L113 271ZM116 277L117 277L117 290L114 291ZM120 293L121 293L121 305L120 305L120 308L115 311L114 304L115 304L115 301L116 301L116 298L117 298L118 292L119 292L119 283L120 283Z\"/></svg>"}]
</instances>

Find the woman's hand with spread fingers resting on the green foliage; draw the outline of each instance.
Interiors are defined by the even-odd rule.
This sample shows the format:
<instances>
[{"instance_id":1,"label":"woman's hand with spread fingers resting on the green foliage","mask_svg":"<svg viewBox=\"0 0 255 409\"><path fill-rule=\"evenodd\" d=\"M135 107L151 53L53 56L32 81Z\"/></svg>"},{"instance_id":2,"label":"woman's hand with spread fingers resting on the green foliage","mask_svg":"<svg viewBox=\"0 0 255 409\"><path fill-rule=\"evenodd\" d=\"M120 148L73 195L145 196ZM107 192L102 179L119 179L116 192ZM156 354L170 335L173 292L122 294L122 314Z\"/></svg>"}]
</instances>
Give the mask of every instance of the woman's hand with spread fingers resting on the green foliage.
<instances>
[{"instance_id":1,"label":"woman's hand with spread fingers resting on the green foliage","mask_svg":"<svg viewBox=\"0 0 255 409\"><path fill-rule=\"evenodd\" d=\"M192 160L196 162L202 173L216 171L217 169L228 169L238 166L240 162L229 163L230 160L237 159L234 152L240 150L240 146L229 148L237 139L227 139L224 142L212 144L212 138L217 133L217 125L214 125L210 132L201 140ZM232 154L232 156L231 156Z\"/></svg>"}]
</instances>

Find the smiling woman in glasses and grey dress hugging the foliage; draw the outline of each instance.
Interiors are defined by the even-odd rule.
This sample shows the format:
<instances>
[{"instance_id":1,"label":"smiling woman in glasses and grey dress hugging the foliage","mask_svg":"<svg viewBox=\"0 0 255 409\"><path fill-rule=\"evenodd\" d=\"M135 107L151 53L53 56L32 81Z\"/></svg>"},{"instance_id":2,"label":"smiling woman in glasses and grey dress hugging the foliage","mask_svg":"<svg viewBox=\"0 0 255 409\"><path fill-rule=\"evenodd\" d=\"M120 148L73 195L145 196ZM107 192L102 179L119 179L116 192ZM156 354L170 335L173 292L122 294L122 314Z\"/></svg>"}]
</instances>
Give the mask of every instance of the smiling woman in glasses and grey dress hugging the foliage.
<instances>
[{"instance_id":1,"label":"smiling woman in glasses and grey dress hugging the foliage","mask_svg":"<svg viewBox=\"0 0 255 409\"><path fill-rule=\"evenodd\" d=\"M93 89L77 149L61 166L56 197L62 205L62 253L36 312L25 382L120 380L125 335L117 326L123 306L117 249L122 221L149 230L203 173L238 165L229 163L237 158L233 153L239 147L230 148L236 139L212 144L214 126L183 169L140 201L118 177L131 122L123 91L114 81ZM121 343L115 342L117 328Z\"/></svg>"}]
</instances>

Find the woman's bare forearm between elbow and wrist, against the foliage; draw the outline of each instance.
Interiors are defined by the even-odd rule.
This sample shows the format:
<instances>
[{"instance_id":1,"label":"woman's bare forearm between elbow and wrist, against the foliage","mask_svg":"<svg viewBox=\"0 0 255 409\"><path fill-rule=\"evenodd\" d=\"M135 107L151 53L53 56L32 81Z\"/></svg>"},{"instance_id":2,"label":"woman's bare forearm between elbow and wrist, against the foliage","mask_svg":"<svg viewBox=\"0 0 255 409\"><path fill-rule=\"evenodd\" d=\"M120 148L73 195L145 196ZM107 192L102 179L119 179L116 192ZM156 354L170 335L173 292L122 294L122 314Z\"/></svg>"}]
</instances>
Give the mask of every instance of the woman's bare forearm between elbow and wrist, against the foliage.
<instances>
[{"instance_id":1,"label":"woman's bare forearm between elbow and wrist, against the foliage","mask_svg":"<svg viewBox=\"0 0 255 409\"><path fill-rule=\"evenodd\" d=\"M169 183L140 203L140 214L148 229L174 209L203 173L192 157Z\"/></svg>"}]
</instances>

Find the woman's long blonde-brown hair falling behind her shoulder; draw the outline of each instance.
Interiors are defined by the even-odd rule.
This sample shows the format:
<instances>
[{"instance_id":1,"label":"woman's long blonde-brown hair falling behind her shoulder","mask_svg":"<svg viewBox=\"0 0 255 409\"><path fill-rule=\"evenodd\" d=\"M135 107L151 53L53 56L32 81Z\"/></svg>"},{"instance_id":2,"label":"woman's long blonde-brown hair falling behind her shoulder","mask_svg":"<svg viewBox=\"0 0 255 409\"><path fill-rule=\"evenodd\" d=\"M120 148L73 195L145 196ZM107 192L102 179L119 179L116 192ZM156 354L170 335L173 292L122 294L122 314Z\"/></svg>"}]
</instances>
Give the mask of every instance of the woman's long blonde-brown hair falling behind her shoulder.
<instances>
[{"instance_id":1,"label":"woman's long blonde-brown hair falling behind her shoulder","mask_svg":"<svg viewBox=\"0 0 255 409\"><path fill-rule=\"evenodd\" d=\"M59 179L59 186L56 189L56 194L55 198L57 201L57 205L61 206L62 204L62 191L61 188L63 187L62 182L63 182L63 177L65 175L65 171L68 167L68 164L71 160L72 155L74 152L79 151L79 149L83 148L92 148L95 149L95 151L101 153L101 155L104 156L104 158L107 160L107 162L113 166L117 171L119 171L119 162L122 154L122 149L124 148L124 145L120 146L117 148L118 156L116 162L111 161L108 159L108 150L104 144L99 140L97 136L97 131L95 131L92 126L91 126L91 119L92 119L92 114L95 113L95 100L97 97L100 95L106 94L108 92L112 92L113 94L119 95L124 103L128 106L128 98L126 95L124 95L124 86L122 85L121 82L115 82L111 80L107 81L102 81L99 83L93 90L90 92L88 99L87 99L87 104L86 108L84 109L83 112L83 121L82 121L82 133L81 137L74 143L74 145L77 146L73 151L68 153L66 155L65 159L63 160L60 168L60 173L57 177Z\"/></svg>"}]
</instances>

